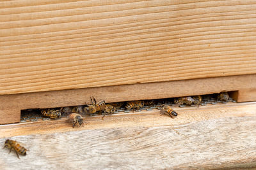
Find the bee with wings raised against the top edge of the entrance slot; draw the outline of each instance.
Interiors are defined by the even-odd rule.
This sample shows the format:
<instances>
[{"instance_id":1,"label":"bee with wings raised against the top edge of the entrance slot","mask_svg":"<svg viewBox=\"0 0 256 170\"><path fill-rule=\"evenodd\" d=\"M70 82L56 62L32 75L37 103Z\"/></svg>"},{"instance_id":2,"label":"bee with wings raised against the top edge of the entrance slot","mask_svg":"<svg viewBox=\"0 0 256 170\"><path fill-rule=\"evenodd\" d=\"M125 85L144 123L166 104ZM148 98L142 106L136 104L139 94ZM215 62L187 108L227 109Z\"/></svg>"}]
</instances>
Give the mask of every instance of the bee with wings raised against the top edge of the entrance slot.
<instances>
[{"instance_id":1,"label":"bee with wings raised against the top edge of the entrance slot","mask_svg":"<svg viewBox=\"0 0 256 170\"><path fill-rule=\"evenodd\" d=\"M84 111L86 113L90 113L90 114L93 114L96 112L102 113L102 111L104 111L104 109L106 108L105 101L99 101L97 103L94 97L93 98L91 97L91 101L92 101L92 104L90 105L85 103L86 107L84 107Z\"/></svg>"}]
</instances>

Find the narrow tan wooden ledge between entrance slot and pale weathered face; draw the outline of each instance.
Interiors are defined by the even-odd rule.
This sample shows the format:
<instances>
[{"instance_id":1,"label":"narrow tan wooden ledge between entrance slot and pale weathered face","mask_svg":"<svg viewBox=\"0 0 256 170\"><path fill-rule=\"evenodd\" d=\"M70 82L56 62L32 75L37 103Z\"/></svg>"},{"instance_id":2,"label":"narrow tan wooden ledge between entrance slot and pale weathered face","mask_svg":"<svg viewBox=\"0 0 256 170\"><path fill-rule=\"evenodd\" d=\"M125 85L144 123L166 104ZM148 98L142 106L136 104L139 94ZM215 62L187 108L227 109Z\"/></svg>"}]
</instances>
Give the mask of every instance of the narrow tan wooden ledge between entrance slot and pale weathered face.
<instances>
[{"instance_id":1,"label":"narrow tan wooden ledge between entrance slot and pale weathered face","mask_svg":"<svg viewBox=\"0 0 256 170\"><path fill-rule=\"evenodd\" d=\"M81 131L84 129L109 129L115 127L153 127L168 125L183 125L203 120L213 120L225 117L253 117L256 115L256 102L227 103L207 106L179 108L172 106L178 117L174 119L160 116L159 110L141 111L135 113L118 113L110 116L85 117L84 127L72 128L66 118L40 122L26 122L0 126L0 138L29 134L48 134L54 132ZM40 128L38 128L40 127Z\"/></svg>"}]
</instances>

